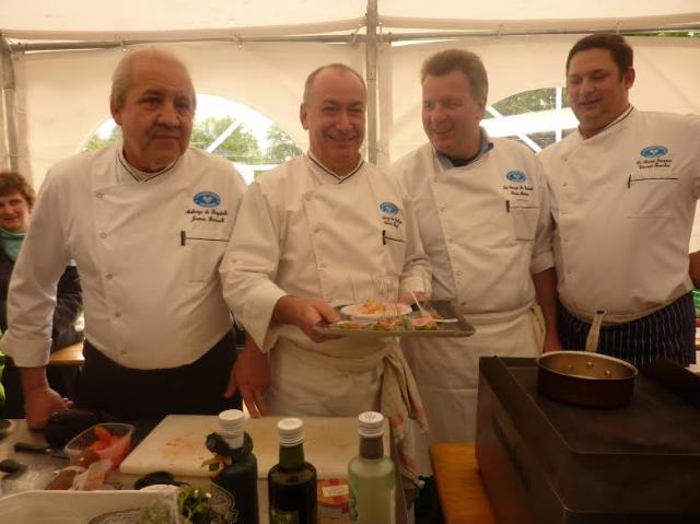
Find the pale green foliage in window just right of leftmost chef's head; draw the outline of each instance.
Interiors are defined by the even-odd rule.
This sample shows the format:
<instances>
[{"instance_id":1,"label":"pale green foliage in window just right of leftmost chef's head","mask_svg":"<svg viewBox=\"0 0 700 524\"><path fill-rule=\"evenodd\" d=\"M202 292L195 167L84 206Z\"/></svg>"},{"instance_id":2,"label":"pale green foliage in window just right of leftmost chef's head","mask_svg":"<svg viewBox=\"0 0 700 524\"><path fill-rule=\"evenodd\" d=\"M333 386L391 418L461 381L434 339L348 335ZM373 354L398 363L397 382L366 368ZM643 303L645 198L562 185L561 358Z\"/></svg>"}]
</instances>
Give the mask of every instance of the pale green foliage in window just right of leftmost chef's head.
<instances>
[{"instance_id":1,"label":"pale green foliage in window just right of leftmost chef's head","mask_svg":"<svg viewBox=\"0 0 700 524\"><path fill-rule=\"evenodd\" d=\"M210 117L195 123L190 143L195 148L207 149L219 136L225 131L235 117ZM256 164L262 162L262 153L255 136L240 125L234 131L213 151L214 154L224 156L231 161Z\"/></svg>"}]
</instances>

